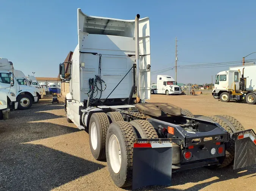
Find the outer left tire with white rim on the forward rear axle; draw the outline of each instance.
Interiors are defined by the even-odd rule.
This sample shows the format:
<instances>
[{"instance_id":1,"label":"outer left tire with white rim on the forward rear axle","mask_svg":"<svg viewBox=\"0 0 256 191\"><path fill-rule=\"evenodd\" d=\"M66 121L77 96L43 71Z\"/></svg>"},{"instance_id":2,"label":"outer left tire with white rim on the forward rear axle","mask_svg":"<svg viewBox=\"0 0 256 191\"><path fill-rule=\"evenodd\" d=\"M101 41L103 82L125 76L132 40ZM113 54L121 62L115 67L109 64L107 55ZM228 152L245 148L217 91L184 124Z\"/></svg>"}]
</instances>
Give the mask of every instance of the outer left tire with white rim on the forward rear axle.
<instances>
[{"instance_id":1,"label":"outer left tire with white rim on the forward rear axle","mask_svg":"<svg viewBox=\"0 0 256 191\"><path fill-rule=\"evenodd\" d=\"M108 126L109 120L107 114L99 112L91 115L89 123L89 142L91 154L96 160L106 158L105 143Z\"/></svg>"}]
</instances>

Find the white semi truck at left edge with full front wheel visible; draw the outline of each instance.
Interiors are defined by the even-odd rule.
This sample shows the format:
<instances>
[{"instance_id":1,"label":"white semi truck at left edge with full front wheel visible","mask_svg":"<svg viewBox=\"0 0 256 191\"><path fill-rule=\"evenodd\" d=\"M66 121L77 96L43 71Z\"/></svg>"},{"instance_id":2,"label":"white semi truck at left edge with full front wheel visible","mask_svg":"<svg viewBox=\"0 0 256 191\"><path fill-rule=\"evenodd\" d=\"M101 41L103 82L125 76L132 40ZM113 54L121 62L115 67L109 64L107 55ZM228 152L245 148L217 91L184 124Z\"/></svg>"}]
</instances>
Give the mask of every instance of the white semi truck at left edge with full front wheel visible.
<instances>
[{"instance_id":1,"label":"white semi truck at left edge with full front wheel visible","mask_svg":"<svg viewBox=\"0 0 256 191\"><path fill-rule=\"evenodd\" d=\"M13 63L8 62L8 59L0 58L0 91L6 92L10 109L28 109L33 101L37 102L36 91L29 86L26 88L20 86L13 71Z\"/></svg>"}]
</instances>

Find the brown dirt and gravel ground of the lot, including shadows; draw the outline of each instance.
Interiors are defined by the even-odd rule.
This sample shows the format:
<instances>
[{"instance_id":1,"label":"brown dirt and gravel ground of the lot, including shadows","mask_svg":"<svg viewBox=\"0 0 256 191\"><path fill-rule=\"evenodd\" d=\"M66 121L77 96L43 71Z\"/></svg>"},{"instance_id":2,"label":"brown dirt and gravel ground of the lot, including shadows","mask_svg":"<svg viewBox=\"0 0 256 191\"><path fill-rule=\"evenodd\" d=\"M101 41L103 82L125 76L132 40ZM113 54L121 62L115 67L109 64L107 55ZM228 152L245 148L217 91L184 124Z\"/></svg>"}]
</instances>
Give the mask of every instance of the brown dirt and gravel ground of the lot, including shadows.
<instances>
[{"instance_id":1,"label":"brown dirt and gravel ground of the lot, including shadows","mask_svg":"<svg viewBox=\"0 0 256 191\"><path fill-rule=\"evenodd\" d=\"M195 115L228 114L256 130L256 105L222 103L210 95L152 95L151 102L173 103ZM50 99L43 99L31 109L12 111L10 117L0 122L1 191L123 190L112 182L107 163L91 156L88 134L66 122L63 103L52 105ZM198 168L173 173L171 187L141 190L255 191L255 182L256 166Z\"/></svg>"}]
</instances>

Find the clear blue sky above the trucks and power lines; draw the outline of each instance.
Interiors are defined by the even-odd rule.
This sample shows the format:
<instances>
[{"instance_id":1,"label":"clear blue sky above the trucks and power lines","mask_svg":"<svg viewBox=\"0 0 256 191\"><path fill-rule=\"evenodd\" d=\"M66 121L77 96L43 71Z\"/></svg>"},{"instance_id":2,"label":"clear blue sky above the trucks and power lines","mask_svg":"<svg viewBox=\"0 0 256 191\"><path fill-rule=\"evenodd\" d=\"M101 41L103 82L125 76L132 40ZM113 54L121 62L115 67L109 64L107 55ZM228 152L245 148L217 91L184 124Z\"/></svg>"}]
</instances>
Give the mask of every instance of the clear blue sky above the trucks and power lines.
<instances>
[{"instance_id":1,"label":"clear blue sky above the trucks and power lines","mask_svg":"<svg viewBox=\"0 0 256 191\"><path fill-rule=\"evenodd\" d=\"M0 0L0 57L25 75L57 77L58 64L77 45L77 8L85 14L150 18L151 69L188 62L229 62L256 51L254 0ZM135 4L137 3L137 4ZM256 58L252 54L247 59ZM187 62L181 62L187 61ZM178 82L210 83L229 67L178 69ZM175 77L174 70L164 72ZM152 82L156 76L152 75Z\"/></svg>"}]
</instances>

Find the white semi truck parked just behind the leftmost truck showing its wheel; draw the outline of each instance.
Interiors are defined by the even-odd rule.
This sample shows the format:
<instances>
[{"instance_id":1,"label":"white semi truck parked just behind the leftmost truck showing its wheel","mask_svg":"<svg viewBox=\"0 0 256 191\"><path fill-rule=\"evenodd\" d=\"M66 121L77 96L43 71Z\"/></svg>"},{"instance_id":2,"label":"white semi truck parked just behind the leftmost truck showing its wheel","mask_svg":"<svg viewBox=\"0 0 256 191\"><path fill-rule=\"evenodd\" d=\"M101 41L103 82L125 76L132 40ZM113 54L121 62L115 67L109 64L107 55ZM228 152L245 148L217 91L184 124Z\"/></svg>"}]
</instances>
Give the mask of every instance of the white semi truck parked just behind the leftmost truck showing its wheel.
<instances>
[{"instance_id":1,"label":"white semi truck parked just behind the leftmost truck showing its wheel","mask_svg":"<svg viewBox=\"0 0 256 191\"><path fill-rule=\"evenodd\" d=\"M30 88L30 89L33 89L34 92L36 92L37 99L35 99L33 97L33 102L38 103L39 100L42 99L42 97L43 97L43 90L42 90L41 86L39 88L38 86L31 84L32 82L28 82L28 79L26 78L25 74L20 70L14 69L13 74L14 74L17 82L19 83L20 88L22 88L22 89Z\"/></svg>"}]
</instances>

